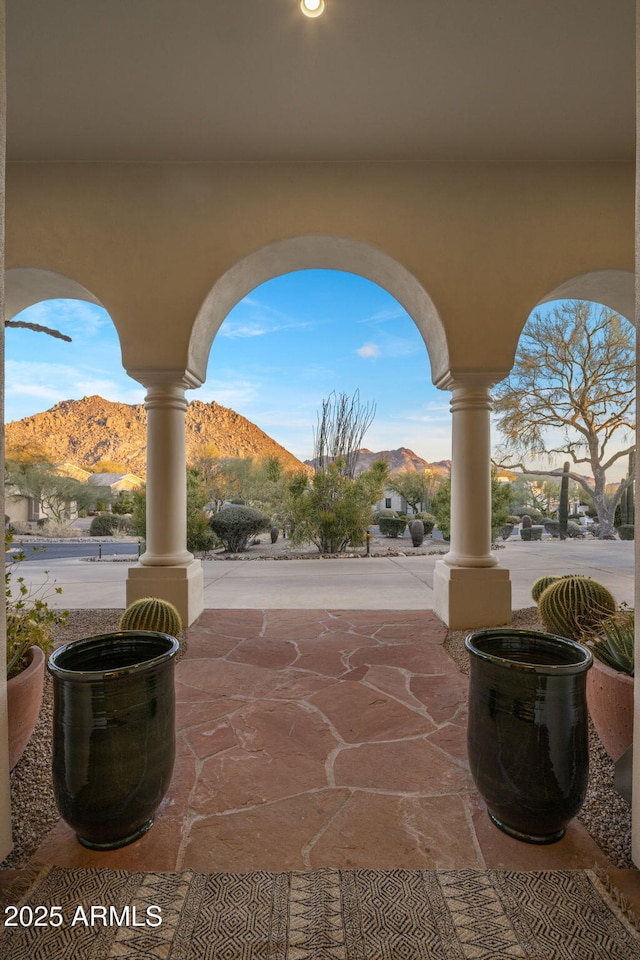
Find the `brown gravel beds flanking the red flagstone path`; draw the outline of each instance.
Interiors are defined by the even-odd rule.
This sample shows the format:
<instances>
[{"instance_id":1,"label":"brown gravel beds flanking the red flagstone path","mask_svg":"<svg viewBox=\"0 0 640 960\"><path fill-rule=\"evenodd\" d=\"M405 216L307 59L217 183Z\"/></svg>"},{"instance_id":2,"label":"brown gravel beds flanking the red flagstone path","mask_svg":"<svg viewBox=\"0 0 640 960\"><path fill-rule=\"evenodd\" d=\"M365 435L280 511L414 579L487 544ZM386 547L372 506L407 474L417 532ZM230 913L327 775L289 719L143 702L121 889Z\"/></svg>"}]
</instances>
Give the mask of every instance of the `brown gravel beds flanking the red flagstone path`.
<instances>
[{"instance_id":1,"label":"brown gravel beds flanking the red flagstone path","mask_svg":"<svg viewBox=\"0 0 640 960\"><path fill-rule=\"evenodd\" d=\"M68 642L118 628L122 610L72 610L58 637ZM542 629L535 607L517 610L511 625L519 629ZM468 631L450 631L446 648L464 673L469 664L464 638ZM8 870L24 866L58 820L51 783L52 696L49 677L38 726L22 759L11 774L11 805L14 849L0 864ZM631 860L631 809L613 787L613 763L594 730L590 736L589 791L579 819L618 867L633 867Z\"/></svg>"}]
</instances>

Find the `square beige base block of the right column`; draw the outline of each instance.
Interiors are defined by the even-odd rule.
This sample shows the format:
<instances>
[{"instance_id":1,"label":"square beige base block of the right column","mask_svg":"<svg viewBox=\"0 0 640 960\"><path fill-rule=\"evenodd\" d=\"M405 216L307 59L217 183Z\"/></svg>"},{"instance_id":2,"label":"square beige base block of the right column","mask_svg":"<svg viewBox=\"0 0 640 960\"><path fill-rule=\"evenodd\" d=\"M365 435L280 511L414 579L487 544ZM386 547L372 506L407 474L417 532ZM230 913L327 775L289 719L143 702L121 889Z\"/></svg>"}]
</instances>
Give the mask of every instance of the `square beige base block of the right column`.
<instances>
[{"instance_id":1,"label":"square beige base block of the right column","mask_svg":"<svg viewBox=\"0 0 640 960\"><path fill-rule=\"evenodd\" d=\"M452 630L498 627L511 620L511 581L505 567L452 567L437 560L433 607Z\"/></svg>"}]
</instances>

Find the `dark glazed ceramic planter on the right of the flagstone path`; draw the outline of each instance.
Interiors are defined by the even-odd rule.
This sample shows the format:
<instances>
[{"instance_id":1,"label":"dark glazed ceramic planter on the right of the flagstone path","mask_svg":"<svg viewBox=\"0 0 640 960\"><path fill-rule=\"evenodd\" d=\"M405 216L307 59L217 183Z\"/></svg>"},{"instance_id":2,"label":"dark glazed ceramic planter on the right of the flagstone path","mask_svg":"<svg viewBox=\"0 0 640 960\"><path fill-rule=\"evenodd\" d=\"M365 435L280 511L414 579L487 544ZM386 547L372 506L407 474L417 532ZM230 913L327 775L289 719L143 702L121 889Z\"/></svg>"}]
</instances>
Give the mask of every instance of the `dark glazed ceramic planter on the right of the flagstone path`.
<instances>
[{"instance_id":1,"label":"dark glazed ceramic planter on the right of the flagstone path","mask_svg":"<svg viewBox=\"0 0 640 960\"><path fill-rule=\"evenodd\" d=\"M471 633L466 647L469 765L489 816L518 840L553 843L587 791L591 653L508 628Z\"/></svg>"}]
</instances>

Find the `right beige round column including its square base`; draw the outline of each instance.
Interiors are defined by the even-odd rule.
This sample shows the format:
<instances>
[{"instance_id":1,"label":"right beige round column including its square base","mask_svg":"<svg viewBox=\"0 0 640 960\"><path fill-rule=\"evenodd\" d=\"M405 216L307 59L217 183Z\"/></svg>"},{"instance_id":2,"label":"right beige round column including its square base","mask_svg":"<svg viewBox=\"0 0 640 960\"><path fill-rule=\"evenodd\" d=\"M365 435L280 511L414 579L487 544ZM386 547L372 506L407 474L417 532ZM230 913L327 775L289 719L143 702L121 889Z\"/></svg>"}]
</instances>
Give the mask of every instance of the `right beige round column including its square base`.
<instances>
[{"instance_id":1,"label":"right beige round column including its square base","mask_svg":"<svg viewBox=\"0 0 640 960\"><path fill-rule=\"evenodd\" d=\"M509 572L491 553L491 396L495 376L451 376L451 547L434 570L434 605L450 627L511 618ZM440 384L439 384L440 385Z\"/></svg>"}]
</instances>

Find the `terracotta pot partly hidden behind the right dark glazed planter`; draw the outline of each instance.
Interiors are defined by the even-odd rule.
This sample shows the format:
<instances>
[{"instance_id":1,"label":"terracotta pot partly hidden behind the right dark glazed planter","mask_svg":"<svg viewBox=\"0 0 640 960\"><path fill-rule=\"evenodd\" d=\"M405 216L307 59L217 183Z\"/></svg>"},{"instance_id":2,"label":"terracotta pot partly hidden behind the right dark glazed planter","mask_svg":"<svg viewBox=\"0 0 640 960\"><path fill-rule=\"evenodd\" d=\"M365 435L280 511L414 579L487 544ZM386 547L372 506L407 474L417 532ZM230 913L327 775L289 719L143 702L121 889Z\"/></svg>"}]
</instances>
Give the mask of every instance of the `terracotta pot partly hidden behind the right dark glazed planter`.
<instances>
[{"instance_id":1,"label":"terracotta pot partly hidden behind the right dark glazed planter","mask_svg":"<svg viewBox=\"0 0 640 960\"><path fill-rule=\"evenodd\" d=\"M618 760L633 742L633 677L594 658L587 702L603 747Z\"/></svg>"}]
</instances>

